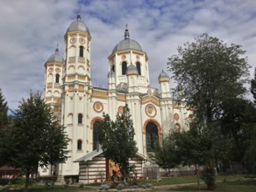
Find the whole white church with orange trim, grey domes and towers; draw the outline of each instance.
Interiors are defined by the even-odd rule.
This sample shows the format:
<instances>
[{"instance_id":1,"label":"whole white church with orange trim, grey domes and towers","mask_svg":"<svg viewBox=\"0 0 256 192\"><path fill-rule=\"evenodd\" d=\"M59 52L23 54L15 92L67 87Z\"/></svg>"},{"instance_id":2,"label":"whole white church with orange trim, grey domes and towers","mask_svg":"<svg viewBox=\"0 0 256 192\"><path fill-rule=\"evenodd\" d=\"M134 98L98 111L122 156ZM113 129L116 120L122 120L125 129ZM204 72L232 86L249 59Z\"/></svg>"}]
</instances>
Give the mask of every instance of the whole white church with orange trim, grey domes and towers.
<instances>
[{"instance_id":1,"label":"whole white church with orange trim, grey domes and towers","mask_svg":"<svg viewBox=\"0 0 256 192\"><path fill-rule=\"evenodd\" d=\"M81 17L72 22L64 35L63 57L58 49L45 64L44 98L60 118L68 134L68 161L55 168L57 175L78 175L76 160L98 147L97 127L108 113L115 120L127 104L132 114L139 154L153 153L155 141L171 129L187 129L190 111L171 97L170 80L166 72L158 79L160 88L149 82L149 62L139 43L130 38L128 29L124 39L110 51L108 87L92 86L90 58L91 36ZM104 74L103 74L104 75ZM48 169L40 175L49 174Z\"/></svg>"}]
</instances>

